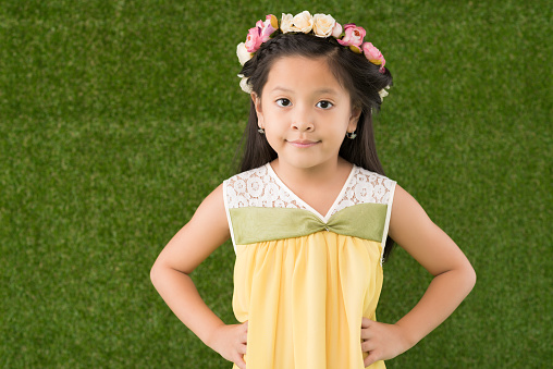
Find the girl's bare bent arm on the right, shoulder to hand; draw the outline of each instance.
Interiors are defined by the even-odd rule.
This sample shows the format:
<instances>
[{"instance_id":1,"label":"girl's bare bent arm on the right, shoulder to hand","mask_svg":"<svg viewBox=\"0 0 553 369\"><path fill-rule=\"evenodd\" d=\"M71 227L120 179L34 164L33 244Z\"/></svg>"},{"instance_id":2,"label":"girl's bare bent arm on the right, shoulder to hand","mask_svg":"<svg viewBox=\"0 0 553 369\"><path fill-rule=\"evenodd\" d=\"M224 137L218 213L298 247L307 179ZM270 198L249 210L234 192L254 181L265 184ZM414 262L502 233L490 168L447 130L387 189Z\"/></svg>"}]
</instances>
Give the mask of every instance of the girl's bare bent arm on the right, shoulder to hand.
<instances>
[{"instance_id":1,"label":"girl's bare bent arm on the right, shoulder to hand","mask_svg":"<svg viewBox=\"0 0 553 369\"><path fill-rule=\"evenodd\" d=\"M434 278L420 302L395 324L364 318L361 348L369 353L365 366L413 347L457 308L476 283L475 270L463 251L400 186L392 206L390 236Z\"/></svg>"}]
</instances>

